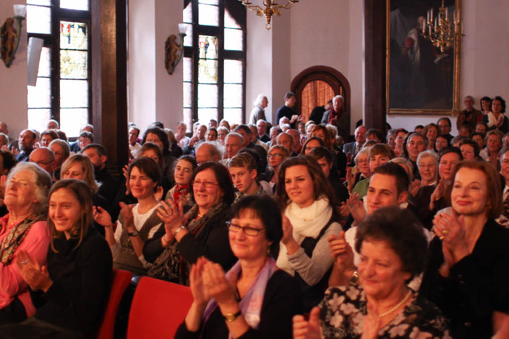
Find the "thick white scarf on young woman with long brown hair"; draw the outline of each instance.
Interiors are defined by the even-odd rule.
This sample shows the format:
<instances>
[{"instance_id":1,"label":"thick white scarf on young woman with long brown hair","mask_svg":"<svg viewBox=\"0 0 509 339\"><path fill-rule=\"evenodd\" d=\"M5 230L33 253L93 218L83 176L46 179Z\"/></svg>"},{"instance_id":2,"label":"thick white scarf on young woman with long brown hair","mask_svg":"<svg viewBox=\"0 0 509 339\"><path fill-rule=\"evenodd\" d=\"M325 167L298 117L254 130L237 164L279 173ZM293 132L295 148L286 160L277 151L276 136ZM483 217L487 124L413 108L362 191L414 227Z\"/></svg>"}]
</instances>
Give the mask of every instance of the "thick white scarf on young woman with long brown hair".
<instances>
[{"instance_id":1,"label":"thick white scarf on young woman with long brown hair","mask_svg":"<svg viewBox=\"0 0 509 339\"><path fill-rule=\"evenodd\" d=\"M291 202L285 209L285 215L292 224L293 238L300 245L306 237L318 237L322 228L332 217L332 206L329 204L329 200L322 196L312 205L304 208ZM286 247L282 242L279 243L279 256L276 265L287 273L295 275L295 271L288 261Z\"/></svg>"}]
</instances>

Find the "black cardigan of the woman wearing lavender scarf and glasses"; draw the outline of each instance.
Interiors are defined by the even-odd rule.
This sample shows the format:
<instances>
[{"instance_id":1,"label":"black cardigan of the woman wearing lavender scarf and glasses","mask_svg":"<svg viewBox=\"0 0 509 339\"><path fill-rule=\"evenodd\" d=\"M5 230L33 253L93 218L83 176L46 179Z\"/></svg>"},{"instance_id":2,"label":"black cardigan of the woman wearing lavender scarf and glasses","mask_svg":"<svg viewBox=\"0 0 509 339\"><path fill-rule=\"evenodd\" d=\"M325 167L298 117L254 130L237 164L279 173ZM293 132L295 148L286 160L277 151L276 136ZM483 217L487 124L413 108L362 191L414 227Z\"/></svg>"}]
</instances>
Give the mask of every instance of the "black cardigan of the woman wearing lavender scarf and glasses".
<instances>
[{"instance_id":1,"label":"black cardigan of the woman wearing lavender scarf and glasses","mask_svg":"<svg viewBox=\"0 0 509 339\"><path fill-rule=\"evenodd\" d=\"M283 270L277 270L267 282L258 328L249 328L240 338L292 338L292 317L300 313L301 292L296 279ZM199 331L189 332L183 322L175 338L199 338L202 327ZM211 313L203 330L204 339L228 338L228 327L219 307Z\"/></svg>"}]
</instances>

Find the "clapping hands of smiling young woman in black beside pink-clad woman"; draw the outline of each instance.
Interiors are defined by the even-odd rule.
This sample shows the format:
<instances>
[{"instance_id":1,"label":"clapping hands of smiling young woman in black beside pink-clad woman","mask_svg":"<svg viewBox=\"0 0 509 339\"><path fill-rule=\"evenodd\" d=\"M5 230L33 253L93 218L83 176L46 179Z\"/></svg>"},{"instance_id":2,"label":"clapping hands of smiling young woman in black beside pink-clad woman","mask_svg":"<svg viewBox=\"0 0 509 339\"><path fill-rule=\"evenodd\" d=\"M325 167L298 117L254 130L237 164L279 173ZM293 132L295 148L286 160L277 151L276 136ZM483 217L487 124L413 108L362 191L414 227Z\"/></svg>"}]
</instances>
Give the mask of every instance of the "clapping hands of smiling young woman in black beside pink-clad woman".
<instances>
[{"instance_id":1,"label":"clapping hands of smiling young woman in black beside pink-clad woman","mask_svg":"<svg viewBox=\"0 0 509 339\"><path fill-rule=\"evenodd\" d=\"M33 259L28 252L17 251L16 265L23 280L29 284L33 291L42 290L46 292L53 284L46 266L40 267L37 260Z\"/></svg>"}]
</instances>

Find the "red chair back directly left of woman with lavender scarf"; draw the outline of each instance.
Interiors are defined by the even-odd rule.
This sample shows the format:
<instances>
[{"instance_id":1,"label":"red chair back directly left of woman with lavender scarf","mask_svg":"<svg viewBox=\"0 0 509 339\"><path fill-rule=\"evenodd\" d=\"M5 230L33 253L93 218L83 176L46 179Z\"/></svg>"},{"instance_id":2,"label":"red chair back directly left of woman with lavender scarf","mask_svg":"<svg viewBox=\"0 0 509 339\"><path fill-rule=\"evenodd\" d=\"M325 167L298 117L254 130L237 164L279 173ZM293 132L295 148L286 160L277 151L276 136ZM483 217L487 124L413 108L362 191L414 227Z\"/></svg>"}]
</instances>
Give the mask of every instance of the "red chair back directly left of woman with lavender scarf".
<instances>
[{"instance_id":1,"label":"red chair back directly left of woman with lavender scarf","mask_svg":"<svg viewBox=\"0 0 509 339\"><path fill-rule=\"evenodd\" d=\"M127 339L173 338L192 301L189 287L144 276L132 299Z\"/></svg>"}]
</instances>

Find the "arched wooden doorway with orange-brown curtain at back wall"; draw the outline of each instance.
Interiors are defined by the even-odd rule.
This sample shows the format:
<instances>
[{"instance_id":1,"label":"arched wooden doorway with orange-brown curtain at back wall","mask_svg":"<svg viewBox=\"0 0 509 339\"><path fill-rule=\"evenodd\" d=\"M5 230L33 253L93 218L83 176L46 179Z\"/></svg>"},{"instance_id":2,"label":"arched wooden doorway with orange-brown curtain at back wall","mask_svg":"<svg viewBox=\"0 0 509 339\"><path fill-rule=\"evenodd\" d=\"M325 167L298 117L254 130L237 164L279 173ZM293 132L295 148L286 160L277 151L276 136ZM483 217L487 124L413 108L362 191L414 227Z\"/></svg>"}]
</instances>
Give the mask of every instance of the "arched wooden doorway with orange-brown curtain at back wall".
<instances>
[{"instance_id":1,"label":"arched wooden doorway with orange-brown curtain at back wall","mask_svg":"<svg viewBox=\"0 0 509 339\"><path fill-rule=\"evenodd\" d=\"M336 95L345 98L345 113L350 115L350 83L339 71L327 66L313 66L300 72L291 89L297 97L296 111L303 121L316 106L323 106ZM348 134L350 131L348 131Z\"/></svg>"}]
</instances>

